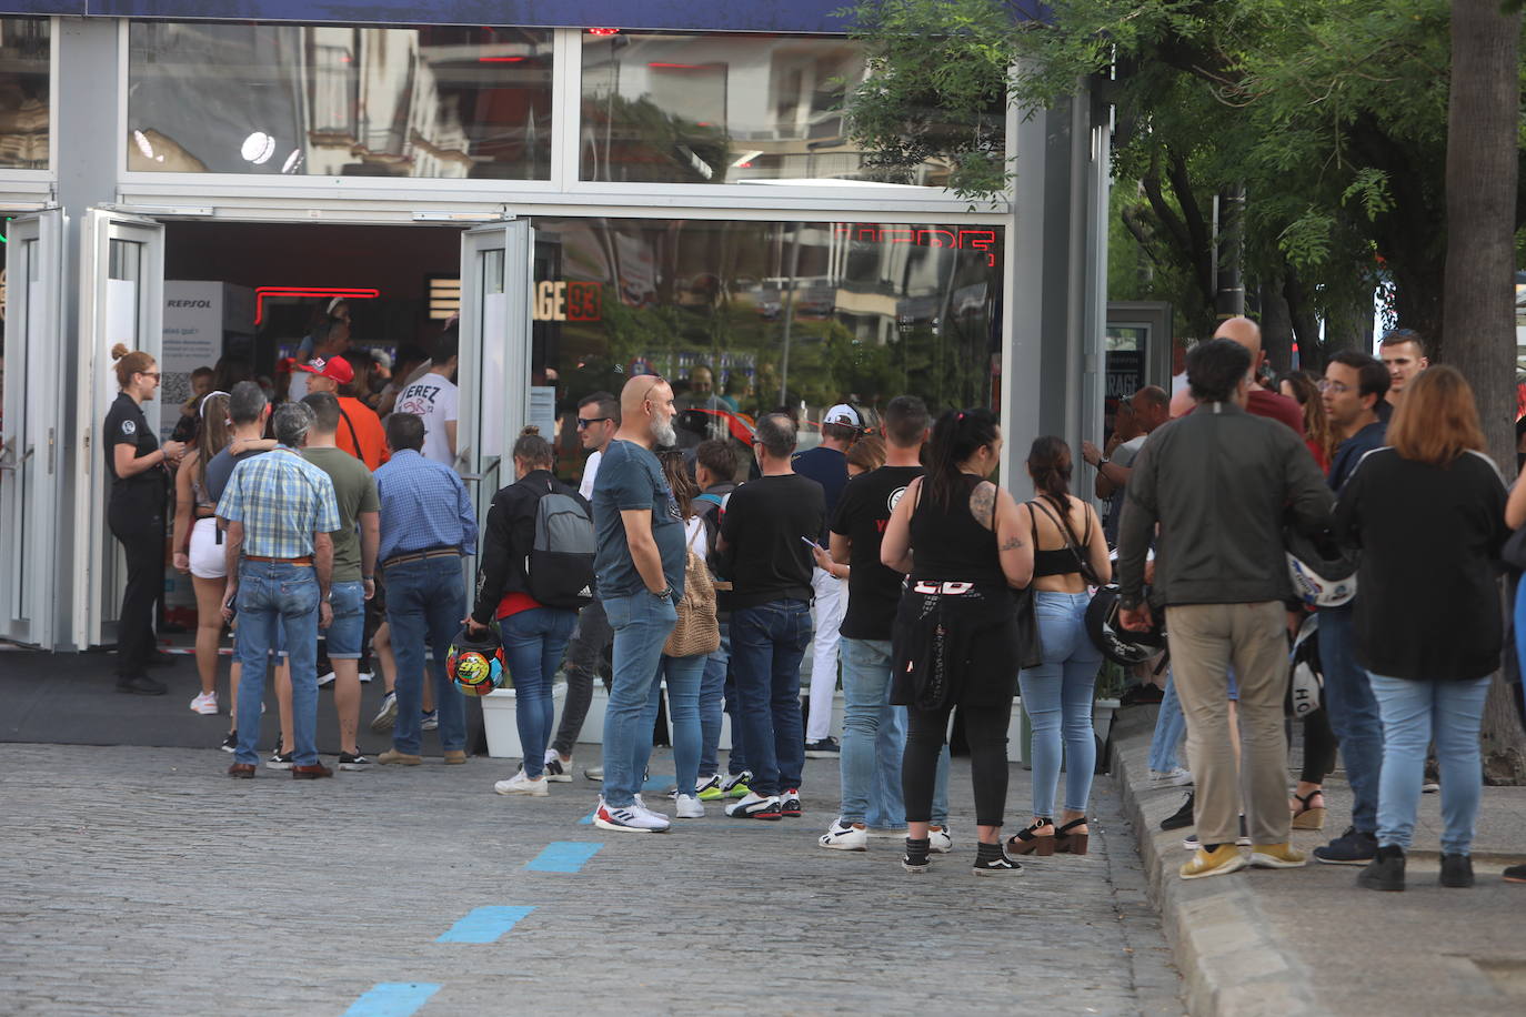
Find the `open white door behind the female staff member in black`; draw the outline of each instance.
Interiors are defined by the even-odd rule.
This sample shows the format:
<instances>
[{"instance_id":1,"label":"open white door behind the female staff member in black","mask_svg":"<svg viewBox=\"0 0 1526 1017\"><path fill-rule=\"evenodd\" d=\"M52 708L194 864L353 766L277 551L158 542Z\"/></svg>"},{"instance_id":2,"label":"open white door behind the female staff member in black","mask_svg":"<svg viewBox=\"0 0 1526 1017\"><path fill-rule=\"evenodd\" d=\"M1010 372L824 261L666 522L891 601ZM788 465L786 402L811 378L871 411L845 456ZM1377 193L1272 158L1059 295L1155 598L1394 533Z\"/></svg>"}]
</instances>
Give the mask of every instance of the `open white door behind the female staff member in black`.
<instances>
[{"instance_id":1,"label":"open white door behind the female staff member in black","mask_svg":"<svg viewBox=\"0 0 1526 1017\"><path fill-rule=\"evenodd\" d=\"M165 227L136 215L90 209L79 259L78 433L75 503L75 643L116 640L127 564L105 523L110 479L101 451L101 421L116 398L111 348L160 358L165 310ZM150 413L154 419L157 412ZM163 435L160 435L160 441Z\"/></svg>"}]
</instances>

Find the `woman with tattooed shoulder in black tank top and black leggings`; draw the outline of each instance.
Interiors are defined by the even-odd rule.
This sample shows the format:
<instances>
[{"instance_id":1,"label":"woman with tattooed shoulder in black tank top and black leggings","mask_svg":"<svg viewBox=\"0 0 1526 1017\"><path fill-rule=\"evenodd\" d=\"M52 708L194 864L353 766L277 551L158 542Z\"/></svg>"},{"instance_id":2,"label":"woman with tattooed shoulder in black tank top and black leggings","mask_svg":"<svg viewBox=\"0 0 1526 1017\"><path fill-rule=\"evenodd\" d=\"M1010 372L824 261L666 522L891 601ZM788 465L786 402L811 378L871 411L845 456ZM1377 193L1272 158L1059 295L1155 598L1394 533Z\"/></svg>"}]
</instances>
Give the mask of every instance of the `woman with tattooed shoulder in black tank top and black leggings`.
<instances>
[{"instance_id":1,"label":"woman with tattooed shoulder in black tank top and black leggings","mask_svg":"<svg viewBox=\"0 0 1526 1017\"><path fill-rule=\"evenodd\" d=\"M1001 849L1007 723L1025 653L1013 589L1033 573L1032 517L986 477L1001 459L990 410L949 410L928 447L928 473L896 505L881 561L909 575L896 618L891 703L908 707L902 762L906 872L928 869L932 784L949 714L961 706L975 785L975 872L1022 871Z\"/></svg>"}]
</instances>

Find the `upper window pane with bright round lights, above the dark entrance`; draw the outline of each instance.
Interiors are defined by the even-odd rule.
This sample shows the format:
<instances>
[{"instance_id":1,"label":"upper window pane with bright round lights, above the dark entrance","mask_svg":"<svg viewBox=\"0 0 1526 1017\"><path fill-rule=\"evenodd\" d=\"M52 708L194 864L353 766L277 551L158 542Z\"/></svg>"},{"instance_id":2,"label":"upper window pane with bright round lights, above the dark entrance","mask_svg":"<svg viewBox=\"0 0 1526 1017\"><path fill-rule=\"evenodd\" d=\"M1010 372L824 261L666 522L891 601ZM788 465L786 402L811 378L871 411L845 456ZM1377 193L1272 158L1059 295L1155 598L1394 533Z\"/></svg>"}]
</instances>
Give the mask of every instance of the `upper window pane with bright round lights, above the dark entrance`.
<instances>
[{"instance_id":1,"label":"upper window pane with bright round lights, above the dark entrance","mask_svg":"<svg viewBox=\"0 0 1526 1017\"><path fill-rule=\"evenodd\" d=\"M131 26L127 168L551 175L551 32Z\"/></svg>"}]
</instances>

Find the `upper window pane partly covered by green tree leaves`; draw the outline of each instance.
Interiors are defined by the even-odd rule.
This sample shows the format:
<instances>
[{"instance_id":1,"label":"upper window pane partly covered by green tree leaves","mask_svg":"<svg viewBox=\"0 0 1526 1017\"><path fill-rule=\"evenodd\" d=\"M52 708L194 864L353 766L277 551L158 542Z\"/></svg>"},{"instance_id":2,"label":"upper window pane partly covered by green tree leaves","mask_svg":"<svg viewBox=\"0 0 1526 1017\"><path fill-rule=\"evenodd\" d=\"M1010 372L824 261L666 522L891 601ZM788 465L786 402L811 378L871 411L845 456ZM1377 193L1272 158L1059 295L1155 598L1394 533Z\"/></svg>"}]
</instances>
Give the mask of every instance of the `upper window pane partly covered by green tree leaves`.
<instances>
[{"instance_id":1,"label":"upper window pane partly covered by green tree leaves","mask_svg":"<svg viewBox=\"0 0 1526 1017\"><path fill-rule=\"evenodd\" d=\"M844 137L864 50L835 37L583 37L583 180L942 186L948 166L868 165Z\"/></svg>"}]
</instances>

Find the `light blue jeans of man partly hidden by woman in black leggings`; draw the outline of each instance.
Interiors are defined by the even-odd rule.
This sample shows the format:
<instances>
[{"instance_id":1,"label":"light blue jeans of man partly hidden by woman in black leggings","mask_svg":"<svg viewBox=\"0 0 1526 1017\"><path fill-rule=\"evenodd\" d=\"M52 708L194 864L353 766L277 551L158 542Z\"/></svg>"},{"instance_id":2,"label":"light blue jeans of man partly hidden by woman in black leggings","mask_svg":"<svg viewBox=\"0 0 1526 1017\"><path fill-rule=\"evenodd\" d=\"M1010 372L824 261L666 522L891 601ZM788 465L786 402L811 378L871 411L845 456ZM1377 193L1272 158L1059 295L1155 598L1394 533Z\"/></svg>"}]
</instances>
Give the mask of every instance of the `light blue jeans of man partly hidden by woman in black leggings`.
<instances>
[{"instance_id":1,"label":"light blue jeans of man partly hidden by woman in black leggings","mask_svg":"<svg viewBox=\"0 0 1526 1017\"><path fill-rule=\"evenodd\" d=\"M844 636L842 653L842 807L845 823L874 829L906 825L900 759L906 752L906 707L890 704L890 640ZM932 825L949 819L949 749L943 746L932 791Z\"/></svg>"}]
</instances>

